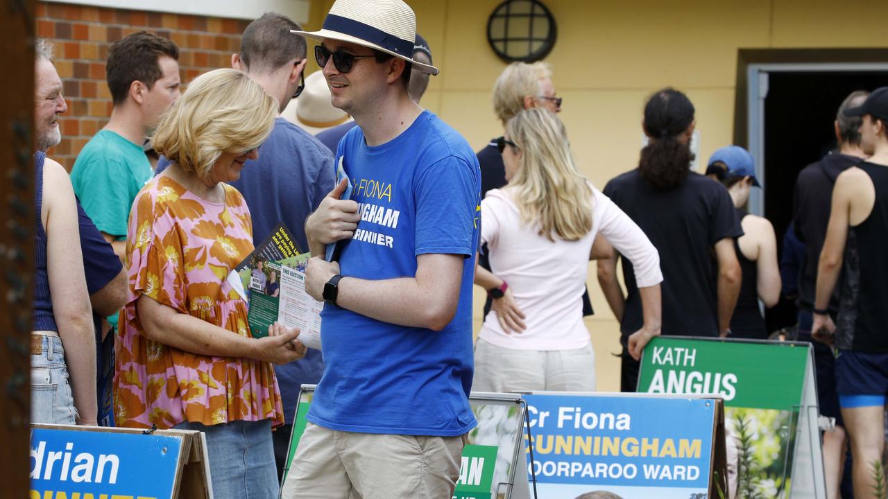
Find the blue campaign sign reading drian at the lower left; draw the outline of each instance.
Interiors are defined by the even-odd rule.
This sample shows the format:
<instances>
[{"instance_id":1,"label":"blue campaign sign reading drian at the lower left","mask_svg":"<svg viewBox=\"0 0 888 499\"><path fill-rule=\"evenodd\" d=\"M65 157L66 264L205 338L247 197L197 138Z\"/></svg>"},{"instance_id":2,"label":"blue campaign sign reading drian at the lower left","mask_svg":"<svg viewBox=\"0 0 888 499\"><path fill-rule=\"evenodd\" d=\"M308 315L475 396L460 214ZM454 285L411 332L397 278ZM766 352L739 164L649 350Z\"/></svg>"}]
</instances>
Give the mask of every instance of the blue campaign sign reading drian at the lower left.
<instances>
[{"instance_id":1,"label":"blue campaign sign reading drian at the lower left","mask_svg":"<svg viewBox=\"0 0 888 499\"><path fill-rule=\"evenodd\" d=\"M34 428L30 496L172 498L182 440L166 435Z\"/></svg>"}]
</instances>

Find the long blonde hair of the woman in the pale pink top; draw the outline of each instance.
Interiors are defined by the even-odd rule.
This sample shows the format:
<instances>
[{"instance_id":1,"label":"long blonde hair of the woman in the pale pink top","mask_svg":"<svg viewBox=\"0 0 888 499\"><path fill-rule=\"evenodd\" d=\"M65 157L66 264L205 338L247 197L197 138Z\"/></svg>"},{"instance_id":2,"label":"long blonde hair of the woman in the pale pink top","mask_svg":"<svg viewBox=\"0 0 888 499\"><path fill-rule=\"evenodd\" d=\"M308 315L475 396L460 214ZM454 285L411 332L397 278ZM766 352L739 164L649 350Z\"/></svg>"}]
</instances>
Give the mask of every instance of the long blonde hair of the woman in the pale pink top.
<instances>
[{"instance_id":1,"label":"long blonde hair of the woman in the pale pink top","mask_svg":"<svg viewBox=\"0 0 888 499\"><path fill-rule=\"evenodd\" d=\"M592 230L592 192L577 170L558 116L535 107L515 115L505 127L520 152L509 186L521 221L538 234L577 241Z\"/></svg>"}]
</instances>

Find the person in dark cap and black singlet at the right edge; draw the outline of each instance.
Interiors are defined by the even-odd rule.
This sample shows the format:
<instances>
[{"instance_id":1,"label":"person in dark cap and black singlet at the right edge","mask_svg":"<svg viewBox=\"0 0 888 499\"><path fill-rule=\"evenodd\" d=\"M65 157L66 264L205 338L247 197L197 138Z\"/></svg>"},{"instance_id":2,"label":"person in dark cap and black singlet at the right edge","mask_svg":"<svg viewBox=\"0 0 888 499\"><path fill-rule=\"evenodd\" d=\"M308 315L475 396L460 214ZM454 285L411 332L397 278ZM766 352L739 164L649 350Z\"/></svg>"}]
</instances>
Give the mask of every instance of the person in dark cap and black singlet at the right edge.
<instances>
[{"instance_id":1,"label":"person in dark cap and black singlet at the right edge","mask_svg":"<svg viewBox=\"0 0 888 499\"><path fill-rule=\"evenodd\" d=\"M864 162L836 178L827 236L817 267L815 338L836 349L836 391L851 440L855 491L884 486L871 473L884 451L888 395L888 87L846 116L862 116ZM829 298L843 273L838 319Z\"/></svg>"}]
</instances>

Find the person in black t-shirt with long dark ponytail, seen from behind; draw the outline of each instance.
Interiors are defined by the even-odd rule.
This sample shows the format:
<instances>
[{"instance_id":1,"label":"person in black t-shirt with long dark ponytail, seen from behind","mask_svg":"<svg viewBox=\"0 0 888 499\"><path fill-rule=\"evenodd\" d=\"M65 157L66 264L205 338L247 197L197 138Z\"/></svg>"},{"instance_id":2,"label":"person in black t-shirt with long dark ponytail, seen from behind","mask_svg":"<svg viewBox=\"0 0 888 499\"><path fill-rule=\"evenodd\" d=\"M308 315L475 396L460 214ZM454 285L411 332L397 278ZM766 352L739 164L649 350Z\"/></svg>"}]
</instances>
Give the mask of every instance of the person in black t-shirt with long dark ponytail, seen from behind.
<instances>
[{"instance_id":1,"label":"person in black t-shirt with long dark ponytail, seen from behind","mask_svg":"<svg viewBox=\"0 0 888 499\"><path fill-rule=\"evenodd\" d=\"M724 186L691 171L689 143L694 105L673 89L648 99L642 127L649 143L638 168L612 179L605 194L645 232L660 253L663 273L662 334L725 337L741 269L734 238L743 232ZM622 255L625 257L625 255ZM616 258L599 260L599 283L622 332L622 391L638 384L638 356L630 334L644 321L632 262L623 259L627 296L616 279Z\"/></svg>"}]
</instances>

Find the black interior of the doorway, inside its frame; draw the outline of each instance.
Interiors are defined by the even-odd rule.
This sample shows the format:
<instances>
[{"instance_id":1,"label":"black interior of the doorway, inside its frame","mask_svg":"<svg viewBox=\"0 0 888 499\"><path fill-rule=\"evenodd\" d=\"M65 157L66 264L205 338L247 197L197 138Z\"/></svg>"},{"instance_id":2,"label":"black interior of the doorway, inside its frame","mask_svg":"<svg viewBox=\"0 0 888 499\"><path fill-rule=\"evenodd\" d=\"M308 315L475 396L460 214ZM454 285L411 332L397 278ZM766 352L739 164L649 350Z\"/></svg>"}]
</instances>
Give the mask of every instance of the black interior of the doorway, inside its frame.
<instances>
[{"instance_id":1,"label":"black interior of the doorway, inside its frame","mask_svg":"<svg viewBox=\"0 0 888 499\"><path fill-rule=\"evenodd\" d=\"M771 72L765 98L765 217L783 234L792 221L798 172L836 147L833 122L849 93L888 85L888 72ZM766 313L768 330L796 322L791 303Z\"/></svg>"}]
</instances>

